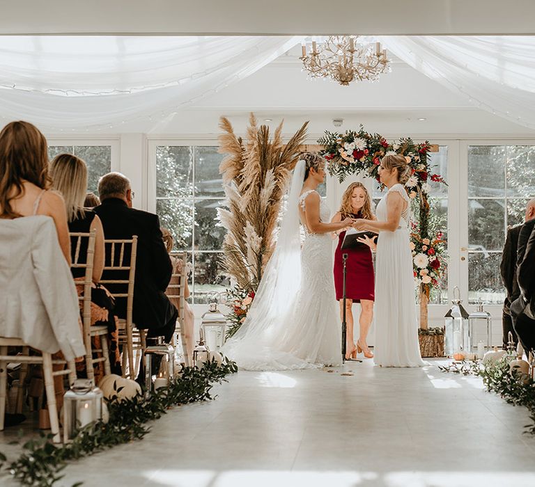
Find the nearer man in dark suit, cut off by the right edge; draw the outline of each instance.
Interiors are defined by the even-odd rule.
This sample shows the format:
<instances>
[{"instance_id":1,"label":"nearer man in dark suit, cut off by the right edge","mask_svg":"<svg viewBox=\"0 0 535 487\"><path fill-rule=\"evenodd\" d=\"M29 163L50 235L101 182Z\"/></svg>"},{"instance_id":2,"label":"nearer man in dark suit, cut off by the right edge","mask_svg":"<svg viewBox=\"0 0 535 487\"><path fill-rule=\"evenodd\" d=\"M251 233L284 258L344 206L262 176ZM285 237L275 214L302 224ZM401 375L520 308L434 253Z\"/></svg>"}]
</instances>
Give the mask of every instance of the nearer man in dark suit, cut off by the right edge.
<instances>
[{"instance_id":1,"label":"nearer man in dark suit, cut off by the right edge","mask_svg":"<svg viewBox=\"0 0 535 487\"><path fill-rule=\"evenodd\" d=\"M535 198L529 201L526 209L526 222L518 231L517 256L513 275L517 295L511 296L510 301L513 328L525 350L532 350L535 346L535 320L530 316L531 312L527 310L529 302L532 301L535 287L534 227Z\"/></svg>"}]
</instances>

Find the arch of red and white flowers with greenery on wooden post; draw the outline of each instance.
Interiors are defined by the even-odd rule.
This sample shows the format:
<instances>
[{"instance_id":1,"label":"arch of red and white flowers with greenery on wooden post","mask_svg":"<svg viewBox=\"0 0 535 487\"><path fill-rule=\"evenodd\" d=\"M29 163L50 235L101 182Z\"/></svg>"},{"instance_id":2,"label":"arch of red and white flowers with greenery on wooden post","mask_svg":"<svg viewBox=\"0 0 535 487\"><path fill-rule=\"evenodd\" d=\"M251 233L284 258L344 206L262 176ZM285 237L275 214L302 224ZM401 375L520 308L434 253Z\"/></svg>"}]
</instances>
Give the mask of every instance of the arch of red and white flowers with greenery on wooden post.
<instances>
[{"instance_id":1,"label":"arch of red and white flowers with greenery on wooden post","mask_svg":"<svg viewBox=\"0 0 535 487\"><path fill-rule=\"evenodd\" d=\"M442 234L431 232L429 228L428 195L431 192L431 182L446 184L441 175L431 170L431 144L428 141L415 143L408 137L389 142L380 134L370 134L362 125L359 130L348 130L345 134L325 131L325 136L318 143L324 147L320 154L327 159L329 174L338 177L339 182L352 174L373 177L379 182L382 157L401 154L407 159L412 175L405 183L405 189L418 207L418 221L412 228L411 240L414 249L418 248L414 258L423 266L418 266L416 262L413 265L419 285L420 327L426 330L429 293L440 282L444 270L440 256L446 248ZM422 250L424 247L426 250Z\"/></svg>"}]
</instances>

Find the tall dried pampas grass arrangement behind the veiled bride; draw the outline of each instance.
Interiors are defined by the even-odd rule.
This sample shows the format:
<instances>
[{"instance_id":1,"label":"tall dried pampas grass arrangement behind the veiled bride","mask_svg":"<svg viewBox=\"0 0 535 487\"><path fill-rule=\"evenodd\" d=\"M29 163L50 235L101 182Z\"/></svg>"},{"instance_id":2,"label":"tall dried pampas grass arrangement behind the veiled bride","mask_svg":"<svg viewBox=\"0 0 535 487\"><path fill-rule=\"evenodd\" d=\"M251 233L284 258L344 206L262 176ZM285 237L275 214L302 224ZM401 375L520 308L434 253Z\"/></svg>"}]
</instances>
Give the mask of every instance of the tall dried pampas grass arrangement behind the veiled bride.
<instances>
[{"instance_id":1,"label":"tall dried pampas grass arrangement behind the veiled bride","mask_svg":"<svg viewBox=\"0 0 535 487\"><path fill-rule=\"evenodd\" d=\"M270 140L270 129L249 117L247 141L235 135L222 117L219 152L228 154L219 166L226 208L218 208L227 234L223 244L226 271L238 286L255 292L274 247L274 232L290 172L299 159L308 122L284 144L282 122Z\"/></svg>"}]
</instances>

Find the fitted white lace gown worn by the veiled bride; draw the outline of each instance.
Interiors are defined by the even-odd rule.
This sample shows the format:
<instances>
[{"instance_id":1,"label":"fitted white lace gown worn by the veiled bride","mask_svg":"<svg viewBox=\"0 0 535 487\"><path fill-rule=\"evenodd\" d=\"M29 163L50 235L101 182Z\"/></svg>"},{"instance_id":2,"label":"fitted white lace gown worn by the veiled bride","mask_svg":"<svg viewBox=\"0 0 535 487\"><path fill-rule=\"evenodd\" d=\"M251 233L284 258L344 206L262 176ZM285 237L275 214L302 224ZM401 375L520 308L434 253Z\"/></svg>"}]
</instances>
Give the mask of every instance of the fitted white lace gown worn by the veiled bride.
<instances>
[{"instance_id":1,"label":"fitted white lace gown worn by the veiled bride","mask_svg":"<svg viewBox=\"0 0 535 487\"><path fill-rule=\"evenodd\" d=\"M315 192L305 191L298 204ZM320 200L320 221L328 222L330 210ZM293 323L282 337L281 349L316 365L341 365L341 324L334 296L332 239L329 233L310 233L303 225L301 248L301 286Z\"/></svg>"}]
</instances>

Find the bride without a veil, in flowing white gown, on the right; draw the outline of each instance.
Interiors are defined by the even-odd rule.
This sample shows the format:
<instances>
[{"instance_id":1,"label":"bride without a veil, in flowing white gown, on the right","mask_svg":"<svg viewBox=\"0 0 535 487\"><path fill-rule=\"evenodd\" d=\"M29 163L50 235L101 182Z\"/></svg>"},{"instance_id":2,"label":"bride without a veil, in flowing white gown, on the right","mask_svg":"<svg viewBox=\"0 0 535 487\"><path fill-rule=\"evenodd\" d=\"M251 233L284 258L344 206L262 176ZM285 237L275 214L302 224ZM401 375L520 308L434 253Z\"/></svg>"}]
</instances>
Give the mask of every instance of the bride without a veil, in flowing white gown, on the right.
<instances>
[{"instance_id":1,"label":"bride without a veil, in flowing white gown, on the right","mask_svg":"<svg viewBox=\"0 0 535 487\"><path fill-rule=\"evenodd\" d=\"M387 155L379 168L388 191L380 200L377 221L357 220L361 230L379 232L375 266L374 361L382 367L421 367L414 275L410 252L410 199L405 182L410 167L405 157Z\"/></svg>"}]
</instances>

